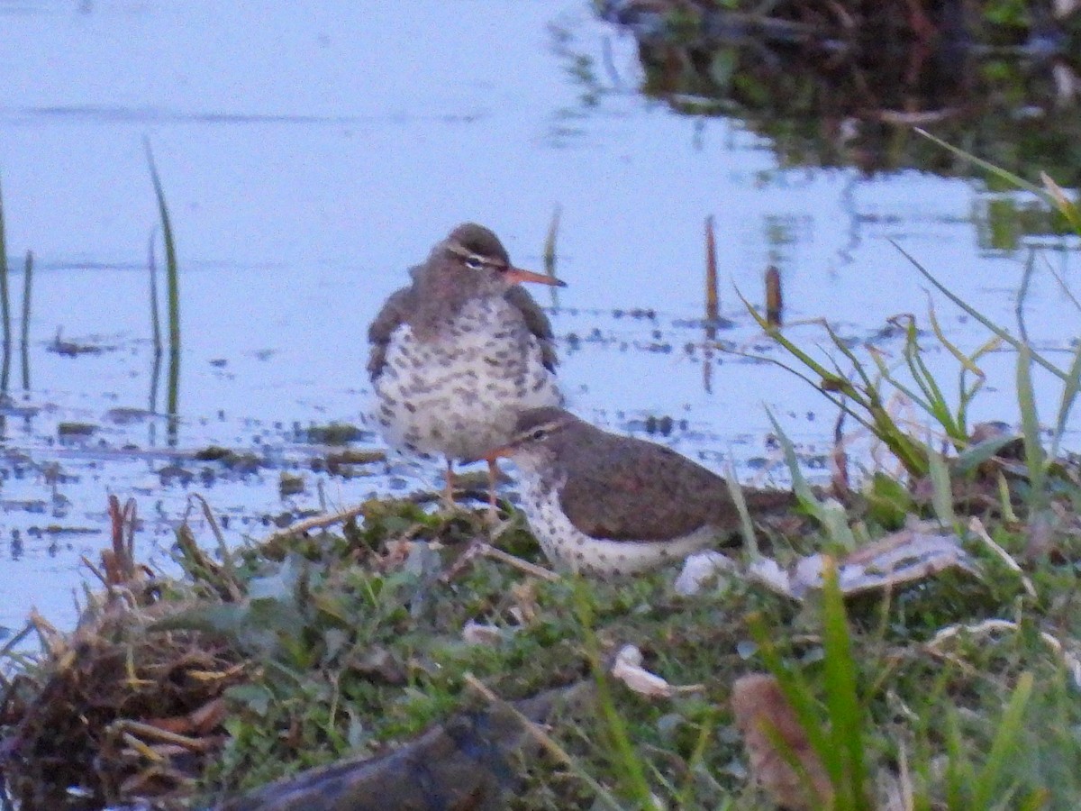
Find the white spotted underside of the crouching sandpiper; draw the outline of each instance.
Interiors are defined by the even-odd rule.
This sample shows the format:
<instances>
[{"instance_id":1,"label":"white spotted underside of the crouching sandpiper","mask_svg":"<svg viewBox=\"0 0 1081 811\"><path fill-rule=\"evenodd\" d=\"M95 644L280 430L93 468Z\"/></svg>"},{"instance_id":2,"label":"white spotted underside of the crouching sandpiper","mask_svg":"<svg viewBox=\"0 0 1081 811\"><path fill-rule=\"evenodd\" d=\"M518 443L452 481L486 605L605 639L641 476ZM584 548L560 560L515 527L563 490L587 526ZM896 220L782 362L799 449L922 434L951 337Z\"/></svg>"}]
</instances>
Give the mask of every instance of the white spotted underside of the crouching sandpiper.
<instances>
[{"instance_id":1,"label":"white spotted underside of the crouching sandpiper","mask_svg":"<svg viewBox=\"0 0 1081 811\"><path fill-rule=\"evenodd\" d=\"M708 546L717 530L704 527L676 541L606 541L578 530L559 507L555 488L542 488L537 477L524 475L522 509L540 548L553 566L575 572L611 576L656 569L683 560Z\"/></svg>"}]
</instances>

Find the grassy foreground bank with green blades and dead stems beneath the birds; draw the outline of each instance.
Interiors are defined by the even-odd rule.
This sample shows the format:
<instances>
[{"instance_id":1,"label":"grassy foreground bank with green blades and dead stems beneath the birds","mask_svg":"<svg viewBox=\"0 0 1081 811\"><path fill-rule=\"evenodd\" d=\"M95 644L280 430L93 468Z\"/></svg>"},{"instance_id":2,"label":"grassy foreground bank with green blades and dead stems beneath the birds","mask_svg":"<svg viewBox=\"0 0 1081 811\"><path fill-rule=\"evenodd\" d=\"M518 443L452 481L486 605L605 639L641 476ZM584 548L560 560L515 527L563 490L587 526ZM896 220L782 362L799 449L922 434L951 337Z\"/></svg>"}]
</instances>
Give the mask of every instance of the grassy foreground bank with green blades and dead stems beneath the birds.
<instances>
[{"instance_id":1,"label":"grassy foreground bank with green blades and dead stems beneath the birds","mask_svg":"<svg viewBox=\"0 0 1081 811\"><path fill-rule=\"evenodd\" d=\"M1081 236L1067 196L1036 190ZM833 476L809 487L778 426L803 515L746 516L740 562L696 587L670 570L556 574L509 504L492 526L428 494L235 549L193 496L209 529L179 528L184 575L164 579L137 564L134 506L114 500L91 564L105 590L86 589L78 629L35 616L0 651L9 792L26 809L396 808L417 786L445 809L1077 808L1081 465L1062 438L1081 346L1055 363L1024 323L1014 334L913 266L987 328L983 344L956 346L932 308L924 329L893 324L899 359L826 321L811 348L747 305L783 351L770 359L837 407ZM932 345L956 387L931 373ZM969 418L982 359L1003 348L1019 433ZM1051 418L1037 373L1059 383ZM899 468L850 479L845 426ZM932 537L951 564L909 543ZM888 553L916 574L850 587ZM778 587L809 567L810 587Z\"/></svg>"}]
</instances>

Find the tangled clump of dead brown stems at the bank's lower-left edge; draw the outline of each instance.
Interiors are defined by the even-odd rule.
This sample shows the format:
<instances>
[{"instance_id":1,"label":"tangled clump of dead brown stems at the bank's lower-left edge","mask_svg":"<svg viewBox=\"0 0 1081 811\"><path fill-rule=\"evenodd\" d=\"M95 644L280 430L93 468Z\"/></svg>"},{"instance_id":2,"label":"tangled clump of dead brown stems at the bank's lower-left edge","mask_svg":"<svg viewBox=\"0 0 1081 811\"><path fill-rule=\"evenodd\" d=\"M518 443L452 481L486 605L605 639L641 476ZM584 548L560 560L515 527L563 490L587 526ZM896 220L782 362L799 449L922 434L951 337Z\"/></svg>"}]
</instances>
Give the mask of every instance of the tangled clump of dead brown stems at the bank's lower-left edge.
<instances>
[{"instance_id":1,"label":"tangled clump of dead brown stems at the bank's lower-left edge","mask_svg":"<svg viewBox=\"0 0 1081 811\"><path fill-rule=\"evenodd\" d=\"M187 797L222 744L222 695L244 679L219 636L152 629L185 602L135 562L134 502L109 508L114 543L93 567L104 593L72 634L32 615L43 655L5 686L3 771L24 809Z\"/></svg>"}]
</instances>

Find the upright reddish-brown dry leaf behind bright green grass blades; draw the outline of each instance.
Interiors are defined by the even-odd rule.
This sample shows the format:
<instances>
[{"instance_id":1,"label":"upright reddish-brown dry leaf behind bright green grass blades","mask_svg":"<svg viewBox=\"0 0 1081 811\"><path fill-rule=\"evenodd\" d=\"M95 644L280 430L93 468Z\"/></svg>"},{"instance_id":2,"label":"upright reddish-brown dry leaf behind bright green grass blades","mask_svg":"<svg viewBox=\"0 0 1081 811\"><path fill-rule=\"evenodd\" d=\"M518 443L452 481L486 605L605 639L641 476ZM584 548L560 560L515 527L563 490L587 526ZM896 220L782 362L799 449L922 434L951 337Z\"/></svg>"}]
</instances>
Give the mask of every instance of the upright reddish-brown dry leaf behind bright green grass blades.
<instances>
[{"instance_id":1,"label":"upright reddish-brown dry leaf behind bright green grass blades","mask_svg":"<svg viewBox=\"0 0 1081 811\"><path fill-rule=\"evenodd\" d=\"M751 777L774 802L791 811L831 807L833 789L826 769L773 676L757 673L736 679L732 686L732 713L744 736ZM768 731L771 729L803 765L817 796L810 796L810 786L774 746Z\"/></svg>"}]
</instances>

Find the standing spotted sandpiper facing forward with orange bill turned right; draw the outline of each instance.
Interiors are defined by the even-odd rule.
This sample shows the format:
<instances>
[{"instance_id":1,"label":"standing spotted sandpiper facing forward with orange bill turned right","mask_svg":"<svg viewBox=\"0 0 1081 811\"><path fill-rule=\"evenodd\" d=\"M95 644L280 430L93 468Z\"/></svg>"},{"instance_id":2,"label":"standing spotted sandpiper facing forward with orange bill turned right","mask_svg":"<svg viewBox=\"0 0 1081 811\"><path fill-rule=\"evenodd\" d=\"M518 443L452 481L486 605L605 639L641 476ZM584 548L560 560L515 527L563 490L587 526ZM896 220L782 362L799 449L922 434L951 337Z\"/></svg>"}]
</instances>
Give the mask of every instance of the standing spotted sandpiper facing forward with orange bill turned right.
<instances>
[{"instance_id":1,"label":"standing spotted sandpiper facing forward with orange bill turned right","mask_svg":"<svg viewBox=\"0 0 1081 811\"><path fill-rule=\"evenodd\" d=\"M522 270L488 228L466 223L410 271L368 331L374 417L399 450L453 461L510 439L522 409L561 401L551 324L519 282L564 287ZM498 468L489 463L495 506Z\"/></svg>"}]
</instances>

